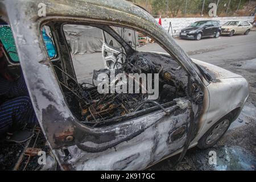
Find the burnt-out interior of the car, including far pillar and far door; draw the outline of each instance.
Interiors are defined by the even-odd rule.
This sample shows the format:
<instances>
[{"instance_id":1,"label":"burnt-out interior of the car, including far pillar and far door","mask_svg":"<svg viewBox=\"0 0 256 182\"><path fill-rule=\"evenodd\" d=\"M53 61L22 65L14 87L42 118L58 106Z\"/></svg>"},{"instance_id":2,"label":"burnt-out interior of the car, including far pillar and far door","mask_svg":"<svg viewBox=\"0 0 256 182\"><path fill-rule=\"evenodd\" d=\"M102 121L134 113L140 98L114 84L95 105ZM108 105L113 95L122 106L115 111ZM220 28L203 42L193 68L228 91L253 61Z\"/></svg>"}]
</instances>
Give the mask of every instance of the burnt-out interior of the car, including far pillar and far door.
<instances>
[{"instance_id":1,"label":"burnt-out interior of the car, including far pillar and far door","mask_svg":"<svg viewBox=\"0 0 256 182\"><path fill-rule=\"evenodd\" d=\"M102 49L102 56L112 57L112 59L104 59L105 68L97 70L91 68L93 74L86 79L88 82L79 83L73 68L72 56L69 55L71 47L68 42L65 42L67 38L65 38L63 28L60 28L65 26L64 23L48 24L49 27L52 26L52 30L55 30L53 34L57 39L56 42L59 42L60 49L58 59L52 60L53 68L69 109L81 123L92 127L103 127L156 110L163 110L167 114L166 107L174 105L175 99L185 98L188 95L187 72L171 56L138 52L136 46L133 48L123 40L122 35L119 35L114 27L98 24L86 24L85 26L88 25L102 30L106 43L105 49ZM111 38L106 39L106 36ZM119 48L115 48L118 47L115 45ZM69 51L65 51L67 49ZM105 73L110 77L110 72L113 70L115 76L118 73L124 73L134 81L136 81L135 77L129 76L129 73L152 73L153 75L158 73L158 98L154 101L148 99L151 93L147 88L143 88L142 78L139 81L139 90L145 89L146 93L98 93L98 75ZM122 82L122 78L116 79L114 84L118 85L118 82ZM128 82L126 81L125 84ZM152 87L154 88L154 83ZM135 91L135 86L132 89Z\"/></svg>"}]
</instances>

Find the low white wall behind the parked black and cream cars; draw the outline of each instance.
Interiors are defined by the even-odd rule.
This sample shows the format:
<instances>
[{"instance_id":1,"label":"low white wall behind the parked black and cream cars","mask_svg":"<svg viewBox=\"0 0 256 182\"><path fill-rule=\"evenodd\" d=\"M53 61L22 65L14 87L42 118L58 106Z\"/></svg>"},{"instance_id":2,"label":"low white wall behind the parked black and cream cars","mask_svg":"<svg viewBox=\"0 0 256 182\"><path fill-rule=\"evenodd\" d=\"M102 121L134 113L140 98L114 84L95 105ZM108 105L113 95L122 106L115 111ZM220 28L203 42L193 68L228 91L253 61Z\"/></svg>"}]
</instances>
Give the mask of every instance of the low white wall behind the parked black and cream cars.
<instances>
[{"instance_id":1,"label":"low white wall behind the parked black and cream cars","mask_svg":"<svg viewBox=\"0 0 256 182\"><path fill-rule=\"evenodd\" d=\"M156 18L158 22L159 18ZM232 20L247 20L250 23L254 22L254 16L230 16L230 17L214 17L214 18L162 18L162 26L168 31L170 22L172 23L172 32L170 28L170 34L173 36L179 36L181 29L189 26L189 24L200 20L218 20L220 24L224 24Z\"/></svg>"}]
</instances>

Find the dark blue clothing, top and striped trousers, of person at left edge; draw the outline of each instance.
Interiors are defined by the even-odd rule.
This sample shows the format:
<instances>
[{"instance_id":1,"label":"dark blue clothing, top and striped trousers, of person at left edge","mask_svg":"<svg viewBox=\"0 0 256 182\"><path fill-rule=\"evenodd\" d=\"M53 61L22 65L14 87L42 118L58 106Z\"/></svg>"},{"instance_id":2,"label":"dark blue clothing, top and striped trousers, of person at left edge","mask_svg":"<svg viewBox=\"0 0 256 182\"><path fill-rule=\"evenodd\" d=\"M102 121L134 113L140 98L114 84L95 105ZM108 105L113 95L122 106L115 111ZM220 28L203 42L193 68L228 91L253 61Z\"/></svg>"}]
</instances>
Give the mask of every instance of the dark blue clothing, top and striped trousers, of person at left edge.
<instances>
[{"instance_id":1,"label":"dark blue clothing, top and striped trousers, of person at left edge","mask_svg":"<svg viewBox=\"0 0 256 182\"><path fill-rule=\"evenodd\" d=\"M37 120L23 76L14 82L0 77L0 88L1 97L7 98L0 106L0 136L26 124L35 125Z\"/></svg>"}]
</instances>

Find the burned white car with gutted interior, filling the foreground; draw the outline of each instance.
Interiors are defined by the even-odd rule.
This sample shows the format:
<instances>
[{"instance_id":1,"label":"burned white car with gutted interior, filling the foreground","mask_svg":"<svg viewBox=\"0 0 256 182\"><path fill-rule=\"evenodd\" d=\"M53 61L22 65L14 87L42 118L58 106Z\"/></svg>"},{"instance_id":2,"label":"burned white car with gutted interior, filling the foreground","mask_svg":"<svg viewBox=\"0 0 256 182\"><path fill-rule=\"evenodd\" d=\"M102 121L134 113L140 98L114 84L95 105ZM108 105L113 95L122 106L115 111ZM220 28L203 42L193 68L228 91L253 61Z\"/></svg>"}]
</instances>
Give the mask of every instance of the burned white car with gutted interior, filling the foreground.
<instances>
[{"instance_id":1,"label":"burned white car with gutted interior, filling the foreground","mask_svg":"<svg viewBox=\"0 0 256 182\"><path fill-rule=\"evenodd\" d=\"M19 57L17 63L9 56L9 66L22 68L40 127L64 170L141 170L171 155L181 160L188 148L212 147L249 94L245 78L190 59L149 13L127 1L8 0L0 1L0 15L10 24ZM94 59L86 68L92 69L91 82L78 81L64 32L69 25L100 30L104 37L103 68L93 69ZM52 56L45 27L56 47ZM138 51L118 33L123 28L153 38L167 53ZM98 76L111 72L158 74L152 79L158 97L151 100L147 88L98 92Z\"/></svg>"}]
</instances>

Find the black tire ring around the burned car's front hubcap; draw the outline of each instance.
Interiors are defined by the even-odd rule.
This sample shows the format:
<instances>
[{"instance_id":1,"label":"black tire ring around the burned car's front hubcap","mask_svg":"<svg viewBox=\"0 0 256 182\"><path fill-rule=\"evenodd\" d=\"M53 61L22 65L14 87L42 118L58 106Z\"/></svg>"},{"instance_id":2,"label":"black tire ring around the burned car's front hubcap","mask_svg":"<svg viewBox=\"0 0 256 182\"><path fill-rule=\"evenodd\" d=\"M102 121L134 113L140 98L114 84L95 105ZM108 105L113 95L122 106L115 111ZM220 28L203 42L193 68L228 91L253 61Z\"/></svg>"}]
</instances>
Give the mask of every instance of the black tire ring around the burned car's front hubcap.
<instances>
[{"instance_id":1,"label":"black tire ring around the burned car's front hubcap","mask_svg":"<svg viewBox=\"0 0 256 182\"><path fill-rule=\"evenodd\" d=\"M201 149L210 148L214 146L218 142L218 140L221 139L221 137L226 133L226 131L229 129L230 124L232 123L230 120L230 115L226 115L225 117L221 118L218 122L216 122L210 129L203 135L203 137L200 138L199 142L197 143L197 147ZM213 134L213 130L218 126L222 125L224 122L228 122L225 124L225 129L223 129L220 133L220 135L216 135L216 139L212 140L212 142L208 142L208 137L210 137ZM218 129L218 127L216 129ZM215 130L216 130L215 129ZM223 132L223 133L222 133Z\"/></svg>"}]
</instances>

